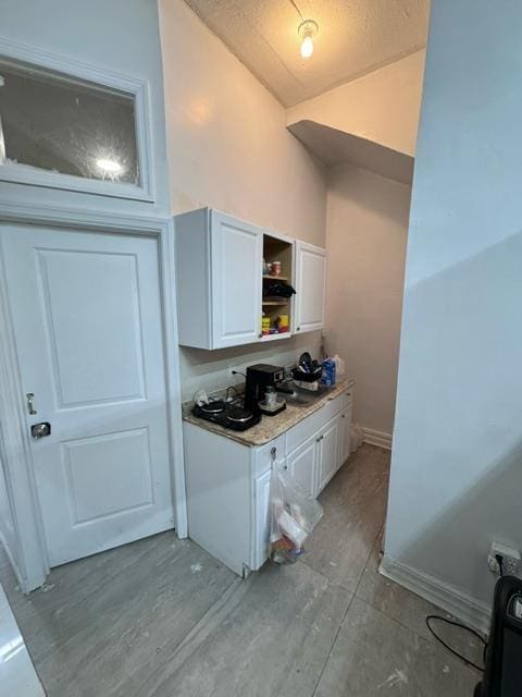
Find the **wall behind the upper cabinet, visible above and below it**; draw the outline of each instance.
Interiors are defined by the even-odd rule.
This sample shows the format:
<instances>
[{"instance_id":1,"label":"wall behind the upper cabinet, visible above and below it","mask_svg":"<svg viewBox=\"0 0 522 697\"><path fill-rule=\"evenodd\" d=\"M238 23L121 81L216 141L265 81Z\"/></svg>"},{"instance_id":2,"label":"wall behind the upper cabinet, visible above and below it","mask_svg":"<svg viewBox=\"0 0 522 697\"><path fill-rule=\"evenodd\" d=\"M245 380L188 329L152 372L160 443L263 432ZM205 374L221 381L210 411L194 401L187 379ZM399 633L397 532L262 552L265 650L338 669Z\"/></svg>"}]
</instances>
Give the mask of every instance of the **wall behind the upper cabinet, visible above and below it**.
<instances>
[{"instance_id":1,"label":"wall behind the upper cabinet, visible above and below it","mask_svg":"<svg viewBox=\"0 0 522 697\"><path fill-rule=\"evenodd\" d=\"M324 169L286 130L286 111L182 0L161 0L174 213L211 206L324 246ZM270 345L181 348L183 398L235 379L229 367L294 363L314 332Z\"/></svg>"}]
</instances>

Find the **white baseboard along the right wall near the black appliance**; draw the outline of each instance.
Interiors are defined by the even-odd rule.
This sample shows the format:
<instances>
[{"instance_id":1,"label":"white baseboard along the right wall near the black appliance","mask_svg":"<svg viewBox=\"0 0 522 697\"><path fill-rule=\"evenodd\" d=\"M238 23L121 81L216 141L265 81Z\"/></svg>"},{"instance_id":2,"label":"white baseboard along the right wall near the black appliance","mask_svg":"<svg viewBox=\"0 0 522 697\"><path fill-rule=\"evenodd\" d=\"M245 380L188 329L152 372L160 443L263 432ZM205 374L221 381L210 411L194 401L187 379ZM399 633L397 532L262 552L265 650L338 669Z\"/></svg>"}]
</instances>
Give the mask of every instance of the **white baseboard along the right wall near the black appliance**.
<instances>
[{"instance_id":1,"label":"white baseboard along the right wall near the black appliance","mask_svg":"<svg viewBox=\"0 0 522 697\"><path fill-rule=\"evenodd\" d=\"M490 608L482 600L477 600L439 578L407 566L386 555L383 557L378 571L386 578L395 580L478 632L487 634Z\"/></svg>"}]
</instances>

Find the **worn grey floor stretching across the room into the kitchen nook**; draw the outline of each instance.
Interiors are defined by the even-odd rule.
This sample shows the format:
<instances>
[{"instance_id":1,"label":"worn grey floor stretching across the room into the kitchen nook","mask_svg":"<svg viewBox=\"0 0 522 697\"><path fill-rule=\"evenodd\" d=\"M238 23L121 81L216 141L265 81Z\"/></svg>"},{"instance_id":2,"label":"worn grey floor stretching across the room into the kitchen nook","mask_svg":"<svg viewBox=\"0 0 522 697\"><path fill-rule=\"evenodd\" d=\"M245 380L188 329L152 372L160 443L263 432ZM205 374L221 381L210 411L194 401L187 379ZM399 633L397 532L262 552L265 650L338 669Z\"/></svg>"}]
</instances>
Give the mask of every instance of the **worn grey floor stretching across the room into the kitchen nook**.
<instances>
[{"instance_id":1,"label":"worn grey floor stretching across the room into the kitchen nook","mask_svg":"<svg viewBox=\"0 0 522 697\"><path fill-rule=\"evenodd\" d=\"M377 573L388 466L363 445L302 560L246 582L171 533L55 568L28 598L0 559L48 697L472 697L478 673L425 628L436 608Z\"/></svg>"}]
</instances>

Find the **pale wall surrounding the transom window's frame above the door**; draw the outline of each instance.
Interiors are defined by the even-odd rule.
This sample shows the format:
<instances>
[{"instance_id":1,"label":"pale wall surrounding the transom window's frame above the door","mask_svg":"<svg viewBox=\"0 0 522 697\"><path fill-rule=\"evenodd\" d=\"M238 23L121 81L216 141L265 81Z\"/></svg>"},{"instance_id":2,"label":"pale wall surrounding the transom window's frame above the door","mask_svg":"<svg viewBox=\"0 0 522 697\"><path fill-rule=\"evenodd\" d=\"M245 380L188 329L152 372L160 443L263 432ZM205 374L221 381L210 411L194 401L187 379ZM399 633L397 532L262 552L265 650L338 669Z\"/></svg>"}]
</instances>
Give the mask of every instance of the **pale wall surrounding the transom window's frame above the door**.
<instances>
[{"instance_id":1,"label":"pale wall surrounding the transom window's frame above the door","mask_svg":"<svg viewBox=\"0 0 522 697\"><path fill-rule=\"evenodd\" d=\"M165 215L169 183L163 75L154 0L0 0L0 37L104 70L147 80L157 204L35 188L33 203ZM0 197L27 200L27 186L1 183Z\"/></svg>"}]
</instances>

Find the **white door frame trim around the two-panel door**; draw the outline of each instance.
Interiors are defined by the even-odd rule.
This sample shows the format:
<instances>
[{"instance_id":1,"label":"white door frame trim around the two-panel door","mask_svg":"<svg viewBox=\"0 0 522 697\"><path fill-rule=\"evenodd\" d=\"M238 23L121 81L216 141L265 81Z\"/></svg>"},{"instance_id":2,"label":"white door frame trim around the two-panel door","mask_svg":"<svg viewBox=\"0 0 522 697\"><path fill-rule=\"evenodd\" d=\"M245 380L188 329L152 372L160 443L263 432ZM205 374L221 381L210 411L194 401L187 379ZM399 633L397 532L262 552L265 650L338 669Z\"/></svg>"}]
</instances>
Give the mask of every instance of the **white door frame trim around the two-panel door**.
<instances>
[{"instance_id":1,"label":"white door frame trim around the two-panel door","mask_svg":"<svg viewBox=\"0 0 522 697\"><path fill-rule=\"evenodd\" d=\"M75 230L139 234L158 240L174 521L177 536L187 537L172 219L0 201L0 223L63 228L72 234ZM16 559L12 561L16 562L14 570L22 590L28 592L45 583L50 567L3 273L0 273L0 424L7 458L3 469L17 541Z\"/></svg>"}]
</instances>

